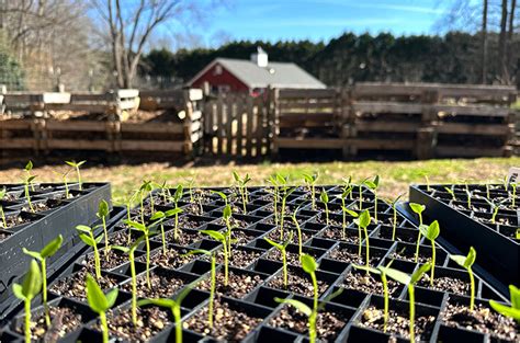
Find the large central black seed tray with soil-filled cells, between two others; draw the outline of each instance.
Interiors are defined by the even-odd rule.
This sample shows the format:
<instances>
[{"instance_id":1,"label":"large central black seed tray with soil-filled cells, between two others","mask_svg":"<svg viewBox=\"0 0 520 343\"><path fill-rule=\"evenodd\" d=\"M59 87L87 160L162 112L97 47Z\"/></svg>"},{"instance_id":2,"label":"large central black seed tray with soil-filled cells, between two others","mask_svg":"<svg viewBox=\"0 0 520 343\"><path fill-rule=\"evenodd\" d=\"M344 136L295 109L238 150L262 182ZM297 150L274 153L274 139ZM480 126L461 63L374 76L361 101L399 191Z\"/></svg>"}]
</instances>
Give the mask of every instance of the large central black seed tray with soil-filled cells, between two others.
<instances>
[{"instance_id":1,"label":"large central black seed tray with soil-filled cells, between two others","mask_svg":"<svg viewBox=\"0 0 520 343\"><path fill-rule=\"evenodd\" d=\"M319 188L321 190L321 187ZM370 264L372 266L387 265L406 273L412 273L420 263L431 259L431 245L421 238L419 261L414 262L418 230L409 220L396 213L396 237L392 240L394 209L382 201L377 205L377 222L369 227L369 241L362 238L361 256L359 253L359 231L352 218L348 217L344 236L342 233L342 216L338 211L341 194L338 186L326 186L330 197L329 222L324 215L323 204L312 208L309 192L298 188L287 201L287 209L295 210L302 229L303 250L315 256L319 263L317 272L318 294L320 299L342 288L343 291L329 300L320 311L318 320L318 339L329 342L388 342L394 336L396 342L407 341L407 327L400 323L404 330L399 332L383 332L381 328L370 323L370 316L381 313L383 309L382 283L377 275L366 276L358 271L352 263L364 264L366 243L370 243ZM309 277L303 272L298 262L297 235L293 236L293 243L287 248L289 287L282 284L282 266L280 255L264 240L265 237L280 240L282 232L274 224L272 214L272 194L269 188L249 187L249 205L247 214L241 213L238 198L231 197L237 225L233 229L235 242L229 267L229 287L224 287L222 254L217 254L217 297L215 302L215 329L207 330L206 315L210 299L211 263L204 255L185 255L193 249L219 251L221 244L201 235L203 229L224 230L222 211L224 204L218 196L208 190L201 190L202 198L194 204L185 196L182 204L184 209L179 217L181 240L173 239L173 219L165 224L167 251L163 252L160 236L155 236L150 242L150 273L152 287L145 285L146 248L142 244L136 252L136 270L138 273L139 298L170 297L176 298L179 291L189 283L197 282L194 289L182 302L183 341L184 342L307 342L308 332L305 317L292 307L280 305L278 298L295 298L308 305L312 304L313 288ZM157 193L159 195L159 193ZM319 198L319 194L317 195ZM160 196L154 198L155 210L173 208L172 204L163 203ZM360 206L360 194L353 193L348 199L351 209ZM373 215L374 195L369 190L361 194L362 209L369 209ZM146 206L145 220L151 214L149 204ZM132 218L140 220L139 208L131 211ZM126 216L125 216L126 218ZM284 236L295 231L289 217ZM339 225L339 226L338 226ZM137 238L137 232L128 230L121 221L110 235L110 244L127 244ZM363 236L364 237L364 236ZM416 325L421 328L417 336L427 342L452 341L498 341L497 333L486 333L478 330L468 330L465 324L446 318L448 308L453 304L466 304L470 294L468 275L464 270L451 262L448 253L437 247L436 284L432 288L429 283L421 282L416 287ZM90 251L90 250L89 250ZM80 256L74 265L49 285L53 297L52 310L71 309L72 313L80 315L75 325L61 331L56 340L60 342L100 342L101 333L97 316L87 306L84 289L84 274L92 271L91 251ZM102 287L110 289L117 287L120 295L115 307L108 315L111 323L111 338L115 341L174 341L173 318L168 311L158 308L139 308L139 319L147 330L134 330L131 324L129 308L131 293L129 265L124 255L112 250L109 259L101 249ZM487 308L486 299L506 301L489 284L476 275L476 297L479 304ZM389 309L396 316L408 318L407 289L396 283L389 284ZM156 313L150 321L150 313ZM38 321L42 308L35 308L33 320ZM21 313L20 313L21 315ZM156 320L159 318L158 320ZM369 319L369 320L368 320ZM114 323L118 323L115 324ZM118 325L118 328L116 328ZM19 316L4 328L0 339L5 342L21 341L22 318ZM33 331L34 333L34 331ZM41 330L38 338L45 334ZM518 341L518 327L511 336L499 336L501 342Z\"/></svg>"}]
</instances>

